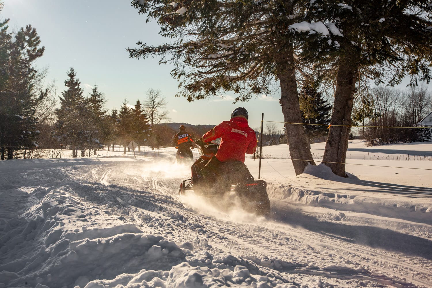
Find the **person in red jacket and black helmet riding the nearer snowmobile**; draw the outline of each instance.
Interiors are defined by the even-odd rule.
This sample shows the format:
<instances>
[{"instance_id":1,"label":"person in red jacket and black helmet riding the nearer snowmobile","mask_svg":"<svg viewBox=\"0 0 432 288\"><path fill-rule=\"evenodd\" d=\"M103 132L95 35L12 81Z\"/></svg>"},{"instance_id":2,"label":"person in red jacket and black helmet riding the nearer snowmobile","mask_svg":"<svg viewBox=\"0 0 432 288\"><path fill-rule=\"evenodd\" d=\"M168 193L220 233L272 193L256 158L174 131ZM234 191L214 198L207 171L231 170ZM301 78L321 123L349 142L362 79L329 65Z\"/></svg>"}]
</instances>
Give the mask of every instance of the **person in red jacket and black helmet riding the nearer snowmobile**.
<instances>
[{"instance_id":1,"label":"person in red jacket and black helmet riding the nearer snowmobile","mask_svg":"<svg viewBox=\"0 0 432 288\"><path fill-rule=\"evenodd\" d=\"M243 182L251 182L254 177L244 164L245 153L254 154L257 147L255 131L248 125L248 111L243 107L235 108L231 120L223 121L202 137L203 142L221 138L216 156L207 163L204 173L216 171L224 177ZM226 179L229 182L229 179Z\"/></svg>"}]
</instances>

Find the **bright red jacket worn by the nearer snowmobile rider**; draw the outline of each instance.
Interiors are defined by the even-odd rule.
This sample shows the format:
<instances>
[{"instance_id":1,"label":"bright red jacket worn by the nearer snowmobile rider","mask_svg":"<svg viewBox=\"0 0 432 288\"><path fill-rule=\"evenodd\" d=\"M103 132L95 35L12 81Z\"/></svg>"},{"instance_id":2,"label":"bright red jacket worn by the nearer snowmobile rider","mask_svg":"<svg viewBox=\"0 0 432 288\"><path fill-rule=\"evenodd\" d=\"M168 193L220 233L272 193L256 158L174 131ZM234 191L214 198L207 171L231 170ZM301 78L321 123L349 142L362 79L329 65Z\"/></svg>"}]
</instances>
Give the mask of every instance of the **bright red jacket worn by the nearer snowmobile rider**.
<instances>
[{"instance_id":1,"label":"bright red jacket worn by the nearer snowmobile rider","mask_svg":"<svg viewBox=\"0 0 432 288\"><path fill-rule=\"evenodd\" d=\"M248 120L243 116L232 117L229 121L223 121L209 132L203 135L204 142L220 140L220 146L216 158L221 161L237 160L245 162L245 153L254 154L257 147L255 131L248 125Z\"/></svg>"}]
</instances>

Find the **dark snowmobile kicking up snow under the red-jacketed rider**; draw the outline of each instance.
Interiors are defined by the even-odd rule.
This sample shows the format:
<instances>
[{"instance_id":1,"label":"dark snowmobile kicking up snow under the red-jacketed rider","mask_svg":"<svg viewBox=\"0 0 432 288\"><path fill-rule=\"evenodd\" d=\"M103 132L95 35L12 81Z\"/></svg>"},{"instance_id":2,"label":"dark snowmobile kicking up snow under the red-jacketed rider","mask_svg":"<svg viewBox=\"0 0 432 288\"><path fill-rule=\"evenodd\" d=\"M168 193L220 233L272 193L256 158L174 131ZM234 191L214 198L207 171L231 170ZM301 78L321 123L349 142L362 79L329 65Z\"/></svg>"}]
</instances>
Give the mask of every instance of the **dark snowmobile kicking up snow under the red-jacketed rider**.
<instances>
[{"instance_id":1,"label":"dark snowmobile kicking up snow under the red-jacketed rider","mask_svg":"<svg viewBox=\"0 0 432 288\"><path fill-rule=\"evenodd\" d=\"M200 157L191 167L191 179L183 180L180 184L179 195L186 195L187 191L193 191L197 195L213 198L219 202L226 199L226 194L234 194L246 211L257 215L267 215L270 212L267 183L264 180L251 180L248 183L243 183L239 182L238 179L232 179L233 177L226 177L230 173L230 169L219 169L219 171L203 169L215 157L219 144L212 141L210 143L194 142L194 145L198 149ZM241 162L237 163L243 165ZM243 167L247 169L245 165ZM228 183L224 181L227 178L231 178Z\"/></svg>"}]
</instances>

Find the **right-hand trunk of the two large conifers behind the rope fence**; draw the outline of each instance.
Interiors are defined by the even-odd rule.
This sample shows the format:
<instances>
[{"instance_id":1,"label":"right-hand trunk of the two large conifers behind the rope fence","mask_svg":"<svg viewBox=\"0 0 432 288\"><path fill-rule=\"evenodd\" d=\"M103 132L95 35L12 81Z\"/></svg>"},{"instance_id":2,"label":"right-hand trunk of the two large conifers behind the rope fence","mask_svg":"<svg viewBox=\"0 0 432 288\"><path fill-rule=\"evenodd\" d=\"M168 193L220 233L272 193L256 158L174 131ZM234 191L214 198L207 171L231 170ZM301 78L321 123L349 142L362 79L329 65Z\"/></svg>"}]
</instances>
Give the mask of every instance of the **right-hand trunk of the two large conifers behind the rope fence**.
<instances>
[{"instance_id":1,"label":"right-hand trunk of the two large conifers behind the rope fence","mask_svg":"<svg viewBox=\"0 0 432 288\"><path fill-rule=\"evenodd\" d=\"M354 93L359 66L353 60L343 59L338 64L336 92L334 95L333 114L328 138L324 150L323 163L331 168L334 174L346 177L345 160L348 149L349 130L352 125Z\"/></svg>"}]
</instances>

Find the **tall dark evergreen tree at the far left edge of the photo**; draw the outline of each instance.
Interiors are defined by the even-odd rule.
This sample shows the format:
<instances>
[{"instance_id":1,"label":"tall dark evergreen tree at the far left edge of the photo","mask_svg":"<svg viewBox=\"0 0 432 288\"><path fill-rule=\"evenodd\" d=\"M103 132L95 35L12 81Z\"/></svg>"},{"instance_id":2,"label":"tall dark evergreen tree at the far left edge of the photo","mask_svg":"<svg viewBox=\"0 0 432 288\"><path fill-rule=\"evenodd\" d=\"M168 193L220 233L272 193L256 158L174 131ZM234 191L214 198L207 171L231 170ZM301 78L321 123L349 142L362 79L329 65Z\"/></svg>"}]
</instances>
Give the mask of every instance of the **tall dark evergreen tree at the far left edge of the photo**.
<instances>
[{"instance_id":1,"label":"tall dark evergreen tree at the far left edge of the photo","mask_svg":"<svg viewBox=\"0 0 432 288\"><path fill-rule=\"evenodd\" d=\"M0 3L0 12L3 3ZM13 159L20 149L36 148L37 107L47 96L35 83L41 77L35 60L44 53L35 28L27 25L7 32L9 19L0 22L0 158Z\"/></svg>"}]
</instances>

